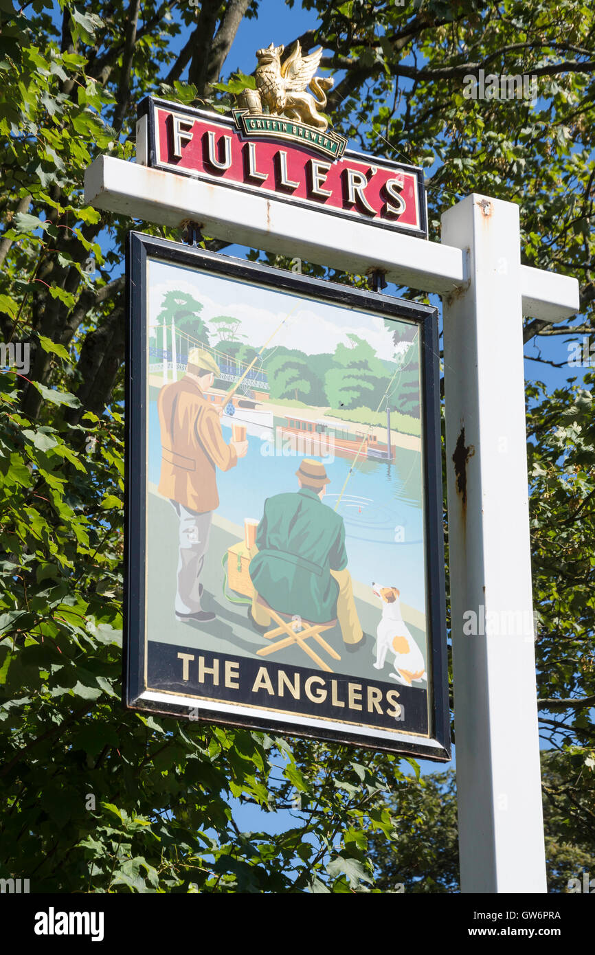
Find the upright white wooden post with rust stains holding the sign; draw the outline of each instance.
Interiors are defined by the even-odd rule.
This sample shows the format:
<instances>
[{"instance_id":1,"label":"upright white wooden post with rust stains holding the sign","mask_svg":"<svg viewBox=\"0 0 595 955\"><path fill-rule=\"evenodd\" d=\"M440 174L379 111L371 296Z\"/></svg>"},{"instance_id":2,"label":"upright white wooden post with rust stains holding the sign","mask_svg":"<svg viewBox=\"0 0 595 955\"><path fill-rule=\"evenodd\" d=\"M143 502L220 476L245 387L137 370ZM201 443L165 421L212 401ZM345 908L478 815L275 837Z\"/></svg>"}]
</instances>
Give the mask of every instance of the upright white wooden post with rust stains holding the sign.
<instances>
[{"instance_id":1,"label":"upright white wooden post with rust stains holding the sign","mask_svg":"<svg viewBox=\"0 0 595 955\"><path fill-rule=\"evenodd\" d=\"M468 196L442 242L469 256L443 310L461 891L545 892L519 206Z\"/></svg>"}]
</instances>

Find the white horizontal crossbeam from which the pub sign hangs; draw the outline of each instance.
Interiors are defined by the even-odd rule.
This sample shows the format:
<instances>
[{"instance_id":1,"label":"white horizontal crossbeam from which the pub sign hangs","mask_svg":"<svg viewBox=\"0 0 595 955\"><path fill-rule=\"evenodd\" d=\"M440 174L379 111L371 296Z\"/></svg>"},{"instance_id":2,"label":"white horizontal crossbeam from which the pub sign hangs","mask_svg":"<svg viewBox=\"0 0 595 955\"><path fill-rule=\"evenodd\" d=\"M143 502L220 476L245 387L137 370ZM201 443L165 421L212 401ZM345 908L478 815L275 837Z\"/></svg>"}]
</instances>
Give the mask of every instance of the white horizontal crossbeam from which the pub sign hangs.
<instances>
[{"instance_id":1,"label":"white horizontal crossbeam from which the pub sign hangs","mask_svg":"<svg viewBox=\"0 0 595 955\"><path fill-rule=\"evenodd\" d=\"M454 246L110 156L97 157L87 169L85 202L172 227L192 219L215 239L258 245L356 275L376 268L389 282L427 292L453 292L469 278L466 252ZM533 318L561 321L579 308L576 279L521 266L521 288L523 313Z\"/></svg>"}]
</instances>

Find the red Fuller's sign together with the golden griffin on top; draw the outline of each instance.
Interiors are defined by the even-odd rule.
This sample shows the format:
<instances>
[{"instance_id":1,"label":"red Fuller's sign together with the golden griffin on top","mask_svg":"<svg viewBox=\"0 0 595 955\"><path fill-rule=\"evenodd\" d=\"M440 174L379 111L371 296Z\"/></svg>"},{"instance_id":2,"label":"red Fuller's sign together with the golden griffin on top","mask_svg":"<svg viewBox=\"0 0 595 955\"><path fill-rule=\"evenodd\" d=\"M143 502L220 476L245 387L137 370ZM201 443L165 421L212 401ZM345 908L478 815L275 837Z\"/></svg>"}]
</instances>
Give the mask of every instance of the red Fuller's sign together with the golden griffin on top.
<instances>
[{"instance_id":1,"label":"red Fuller's sign together with the golden griffin on top","mask_svg":"<svg viewBox=\"0 0 595 955\"><path fill-rule=\"evenodd\" d=\"M427 238L422 170L346 149L319 112L331 85L314 76L321 51L302 56L298 44L282 63L283 51L257 52L256 89L229 117L144 99L138 161Z\"/></svg>"}]
</instances>

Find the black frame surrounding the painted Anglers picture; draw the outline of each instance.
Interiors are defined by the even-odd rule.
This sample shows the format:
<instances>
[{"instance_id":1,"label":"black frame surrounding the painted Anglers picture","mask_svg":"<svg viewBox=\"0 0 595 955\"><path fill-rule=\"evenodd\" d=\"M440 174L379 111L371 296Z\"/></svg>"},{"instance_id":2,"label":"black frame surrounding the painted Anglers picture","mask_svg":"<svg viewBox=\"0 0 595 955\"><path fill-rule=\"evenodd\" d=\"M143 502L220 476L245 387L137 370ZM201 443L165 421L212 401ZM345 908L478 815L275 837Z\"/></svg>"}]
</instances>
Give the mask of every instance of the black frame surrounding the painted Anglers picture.
<instances>
[{"instance_id":1,"label":"black frame surrounding the painted Anglers picture","mask_svg":"<svg viewBox=\"0 0 595 955\"><path fill-rule=\"evenodd\" d=\"M286 290L321 299L347 308L368 310L386 318L414 321L420 329L421 393L423 417L424 516L426 526L426 583L428 622L428 672L432 692L429 697L428 734L417 736L395 733L389 742L371 732L351 732L347 724L329 723L329 728L296 721L276 719L273 712L262 716L244 715L230 705L227 711L209 708L196 696L196 709L190 696L179 690L153 693L145 682L145 561L147 513L147 261L183 265L213 275L223 275L249 283ZM440 447L440 388L438 361L437 309L374 293L365 289L338 285L272 268L196 246L168 242L131 231L126 244L126 397L125 397L125 583L124 636L122 654L122 702L127 709L149 711L207 723L243 726L288 736L324 739L391 753L420 756L446 762L451 758L448 662L445 616L445 575L443 541L443 496ZM205 654L205 666L210 660ZM396 688L395 688L396 689ZM408 688L398 688L399 690ZM159 698L155 698L158 696ZM166 696L167 699L163 699ZM192 700L195 697L191 697ZM247 706L244 707L247 709ZM367 724L366 724L367 725Z\"/></svg>"}]
</instances>

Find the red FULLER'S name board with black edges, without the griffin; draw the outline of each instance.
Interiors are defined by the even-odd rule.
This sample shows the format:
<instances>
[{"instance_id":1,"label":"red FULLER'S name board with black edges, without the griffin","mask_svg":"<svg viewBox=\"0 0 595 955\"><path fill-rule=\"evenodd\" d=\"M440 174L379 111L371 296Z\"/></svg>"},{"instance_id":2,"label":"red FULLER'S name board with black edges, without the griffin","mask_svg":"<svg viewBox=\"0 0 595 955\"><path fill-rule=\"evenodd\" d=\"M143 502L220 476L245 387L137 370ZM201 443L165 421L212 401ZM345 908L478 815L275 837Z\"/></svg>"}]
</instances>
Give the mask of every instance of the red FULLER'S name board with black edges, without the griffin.
<instances>
[{"instance_id":1,"label":"red FULLER'S name board with black edges, without the griffin","mask_svg":"<svg viewBox=\"0 0 595 955\"><path fill-rule=\"evenodd\" d=\"M219 117L152 97L144 116L150 166L427 238L416 166L350 150L333 159L340 138L284 117Z\"/></svg>"}]
</instances>

